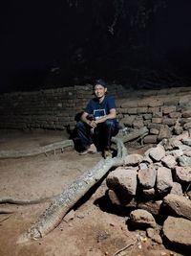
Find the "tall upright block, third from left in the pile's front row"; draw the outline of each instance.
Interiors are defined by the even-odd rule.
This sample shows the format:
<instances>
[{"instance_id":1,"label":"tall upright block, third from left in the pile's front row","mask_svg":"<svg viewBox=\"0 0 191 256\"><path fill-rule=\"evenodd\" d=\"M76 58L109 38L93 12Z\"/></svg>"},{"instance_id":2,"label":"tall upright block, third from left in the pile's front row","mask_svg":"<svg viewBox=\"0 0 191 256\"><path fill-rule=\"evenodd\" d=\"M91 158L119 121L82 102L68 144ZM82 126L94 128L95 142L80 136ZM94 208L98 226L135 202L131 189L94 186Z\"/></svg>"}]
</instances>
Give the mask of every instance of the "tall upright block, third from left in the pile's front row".
<instances>
[{"instance_id":1,"label":"tall upright block, third from left in the pile's front row","mask_svg":"<svg viewBox=\"0 0 191 256\"><path fill-rule=\"evenodd\" d=\"M157 191L159 194L168 193L173 186L171 170L166 167L159 167L157 173Z\"/></svg>"}]
</instances>

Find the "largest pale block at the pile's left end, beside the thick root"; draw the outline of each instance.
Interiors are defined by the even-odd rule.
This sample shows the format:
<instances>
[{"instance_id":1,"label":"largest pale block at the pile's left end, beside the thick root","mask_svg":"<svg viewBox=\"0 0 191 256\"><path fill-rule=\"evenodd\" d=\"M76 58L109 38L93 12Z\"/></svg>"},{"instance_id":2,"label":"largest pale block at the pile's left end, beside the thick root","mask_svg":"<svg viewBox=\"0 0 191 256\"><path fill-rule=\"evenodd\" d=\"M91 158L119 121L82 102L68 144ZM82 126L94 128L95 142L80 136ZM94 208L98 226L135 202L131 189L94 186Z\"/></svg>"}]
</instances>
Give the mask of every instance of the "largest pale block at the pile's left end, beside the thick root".
<instances>
[{"instance_id":1,"label":"largest pale block at the pile's left end, beside the thick root","mask_svg":"<svg viewBox=\"0 0 191 256\"><path fill-rule=\"evenodd\" d=\"M137 191L137 171L135 169L117 167L106 178L109 189L120 193L123 197L135 196Z\"/></svg>"}]
</instances>

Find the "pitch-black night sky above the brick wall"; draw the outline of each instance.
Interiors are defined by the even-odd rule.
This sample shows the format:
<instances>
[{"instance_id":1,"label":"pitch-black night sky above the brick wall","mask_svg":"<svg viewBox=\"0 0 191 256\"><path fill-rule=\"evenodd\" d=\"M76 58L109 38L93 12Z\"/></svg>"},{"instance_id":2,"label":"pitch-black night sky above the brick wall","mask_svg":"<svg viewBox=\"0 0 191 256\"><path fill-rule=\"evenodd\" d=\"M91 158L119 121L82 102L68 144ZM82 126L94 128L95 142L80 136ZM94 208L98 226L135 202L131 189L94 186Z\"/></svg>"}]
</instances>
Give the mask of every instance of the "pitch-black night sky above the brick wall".
<instances>
[{"instance_id":1,"label":"pitch-black night sky above the brick wall","mask_svg":"<svg viewBox=\"0 0 191 256\"><path fill-rule=\"evenodd\" d=\"M1 92L83 84L96 77L135 82L126 67L190 76L190 1L166 0L142 29L130 24L138 1L128 0L128 15L121 11L114 34L109 31L116 13L112 0L69 2L1 3Z\"/></svg>"}]
</instances>

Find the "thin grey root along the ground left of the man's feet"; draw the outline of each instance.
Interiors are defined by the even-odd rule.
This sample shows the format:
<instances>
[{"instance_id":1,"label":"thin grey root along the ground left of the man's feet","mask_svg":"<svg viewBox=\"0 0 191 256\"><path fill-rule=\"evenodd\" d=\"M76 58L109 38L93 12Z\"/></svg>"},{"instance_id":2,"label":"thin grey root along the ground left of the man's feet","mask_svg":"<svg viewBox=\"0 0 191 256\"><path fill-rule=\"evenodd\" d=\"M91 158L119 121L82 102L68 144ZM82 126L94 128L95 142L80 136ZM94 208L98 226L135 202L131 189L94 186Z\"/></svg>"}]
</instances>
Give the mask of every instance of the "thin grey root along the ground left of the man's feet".
<instances>
[{"instance_id":1,"label":"thin grey root along the ground left of the man's feet","mask_svg":"<svg viewBox=\"0 0 191 256\"><path fill-rule=\"evenodd\" d=\"M67 147L74 148L73 140L64 140L60 142L54 142L44 147L27 149L27 150L14 150L14 151L0 151L0 158L19 158L25 156L38 155L41 153L47 153L49 151L63 150Z\"/></svg>"}]
</instances>

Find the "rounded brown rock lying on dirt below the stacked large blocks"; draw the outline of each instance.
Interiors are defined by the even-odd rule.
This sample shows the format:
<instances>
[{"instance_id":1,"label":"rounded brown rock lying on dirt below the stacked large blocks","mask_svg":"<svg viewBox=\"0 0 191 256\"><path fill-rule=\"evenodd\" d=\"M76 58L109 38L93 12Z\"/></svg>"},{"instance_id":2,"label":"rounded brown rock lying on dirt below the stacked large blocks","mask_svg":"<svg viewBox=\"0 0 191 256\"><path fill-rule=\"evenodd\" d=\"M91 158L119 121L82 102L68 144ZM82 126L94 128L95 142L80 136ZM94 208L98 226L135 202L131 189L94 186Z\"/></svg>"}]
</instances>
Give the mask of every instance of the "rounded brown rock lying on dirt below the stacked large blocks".
<instances>
[{"instance_id":1,"label":"rounded brown rock lying on dirt below the stacked large blocks","mask_svg":"<svg viewBox=\"0 0 191 256\"><path fill-rule=\"evenodd\" d=\"M156 227L156 221L149 212L138 209L130 213L130 221L139 228Z\"/></svg>"}]
</instances>

